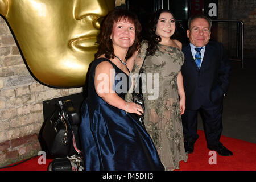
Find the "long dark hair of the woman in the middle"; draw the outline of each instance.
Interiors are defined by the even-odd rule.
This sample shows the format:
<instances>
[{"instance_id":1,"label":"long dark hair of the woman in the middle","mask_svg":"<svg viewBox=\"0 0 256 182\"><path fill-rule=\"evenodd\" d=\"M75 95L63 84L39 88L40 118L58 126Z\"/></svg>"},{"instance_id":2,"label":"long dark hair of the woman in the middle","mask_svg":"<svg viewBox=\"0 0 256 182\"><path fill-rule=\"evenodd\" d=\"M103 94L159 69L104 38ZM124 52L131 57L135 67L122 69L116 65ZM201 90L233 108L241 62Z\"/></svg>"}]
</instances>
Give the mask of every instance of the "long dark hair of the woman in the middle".
<instances>
[{"instance_id":1,"label":"long dark hair of the woman in the middle","mask_svg":"<svg viewBox=\"0 0 256 182\"><path fill-rule=\"evenodd\" d=\"M172 16L174 17L174 14L170 11L170 10L164 10L164 9L159 9L157 11L155 11L154 14L152 14L152 17L150 18L148 25L147 25L147 42L148 42L148 48L147 48L147 52L148 55L153 55L156 51L156 49L158 48L158 43L161 42L161 38L160 36L156 35L156 25L158 24L158 19L161 15L161 13L171 13ZM174 17L175 19L175 17ZM175 21L175 25L176 25L176 21ZM171 39L173 39L176 35L177 31L175 28L175 32L174 34L171 36Z\"/></svg>"}]
</instances>

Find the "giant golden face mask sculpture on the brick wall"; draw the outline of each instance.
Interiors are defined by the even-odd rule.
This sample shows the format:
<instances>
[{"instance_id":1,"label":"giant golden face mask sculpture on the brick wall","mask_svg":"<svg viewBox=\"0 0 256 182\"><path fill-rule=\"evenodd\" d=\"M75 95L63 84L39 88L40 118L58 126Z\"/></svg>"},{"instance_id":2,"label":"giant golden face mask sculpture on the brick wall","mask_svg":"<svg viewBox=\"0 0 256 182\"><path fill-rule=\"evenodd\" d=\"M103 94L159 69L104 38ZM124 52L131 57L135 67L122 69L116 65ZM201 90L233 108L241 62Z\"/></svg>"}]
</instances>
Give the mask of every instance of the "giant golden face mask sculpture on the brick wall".
<instances>
[{"instance_id":1,"label":"giant golden face mask sculpture on the brick wall","mask_svg":"<svg viewBox=\"0 0 256 182\"><path fill-rule=\"evenodd\" d=\"M0 0L24 61L44 85L76 88L97 51L100 22L114 0Z\"/></svg>"}]
</instances>

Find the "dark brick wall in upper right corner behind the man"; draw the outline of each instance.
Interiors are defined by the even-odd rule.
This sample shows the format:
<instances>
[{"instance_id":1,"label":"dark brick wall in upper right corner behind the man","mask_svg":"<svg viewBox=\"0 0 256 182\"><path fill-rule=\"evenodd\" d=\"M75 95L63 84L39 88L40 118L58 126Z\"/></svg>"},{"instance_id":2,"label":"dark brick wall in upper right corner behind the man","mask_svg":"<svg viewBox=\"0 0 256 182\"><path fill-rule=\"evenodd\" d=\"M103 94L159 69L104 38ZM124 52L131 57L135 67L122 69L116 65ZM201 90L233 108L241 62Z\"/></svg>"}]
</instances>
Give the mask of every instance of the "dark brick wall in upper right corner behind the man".
<instances>
[{"instance_id":1,"label":"dark brick wall in upper right corner behind the man","mask_svg":"<svg viewBox=\"0 0 256 182\"><path fill-rule=\"evenodd\" d=\"M243 56L256 57L256 1L255 0L219 0L218 19L242 20L244 23ZM224 43L229 53L236 54L236 23L220 23L218 40Z\"/></svg>"}]
</instances>

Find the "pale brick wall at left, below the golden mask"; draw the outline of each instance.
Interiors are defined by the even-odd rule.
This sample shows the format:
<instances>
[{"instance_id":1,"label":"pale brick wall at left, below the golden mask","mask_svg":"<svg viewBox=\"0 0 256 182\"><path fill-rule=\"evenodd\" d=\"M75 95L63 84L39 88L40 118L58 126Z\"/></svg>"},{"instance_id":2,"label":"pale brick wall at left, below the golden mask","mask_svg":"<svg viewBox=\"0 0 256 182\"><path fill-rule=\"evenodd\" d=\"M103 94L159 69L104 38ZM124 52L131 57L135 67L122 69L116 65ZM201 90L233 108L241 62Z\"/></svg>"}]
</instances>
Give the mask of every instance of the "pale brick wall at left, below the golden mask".
<instances>
[{"instance_id":1,"label":"pale brick wall at left, below the golden mask","mask_svg":"<svg viewBox=\"0 0 256 182\"><path fill-rule=\"evenodd\" d=\"M0 167L37 155L43 123L42 101L82 92L53 89L28 72L13 35L0 17Z\"/></svg>"}]
</instances>

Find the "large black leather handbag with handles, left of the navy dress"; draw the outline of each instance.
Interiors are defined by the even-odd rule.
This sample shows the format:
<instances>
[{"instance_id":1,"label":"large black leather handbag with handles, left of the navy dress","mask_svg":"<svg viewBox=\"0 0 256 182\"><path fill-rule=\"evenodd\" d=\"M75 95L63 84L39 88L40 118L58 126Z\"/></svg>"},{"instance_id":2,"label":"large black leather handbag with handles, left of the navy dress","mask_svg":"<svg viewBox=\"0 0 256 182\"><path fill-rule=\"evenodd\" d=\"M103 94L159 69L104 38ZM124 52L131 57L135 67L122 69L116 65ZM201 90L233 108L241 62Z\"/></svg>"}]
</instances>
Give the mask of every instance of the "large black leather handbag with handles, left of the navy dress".
<instances>
[{"instance_id":1,"label":"large black leather handbag with handles, left of the navy dress","mask_svg":"<svg viewBox=\"0 0 256 182\"><path fill-rule=\"evenodd\" d=\"M49 154L67 156L76 154L76 152L81 153L79 141L77 141L79 122L79 116L73 109L71 100L64 101L64 104L59 101L59 106L47 119L42 132Z\"/></svg>"}]
</instances>

